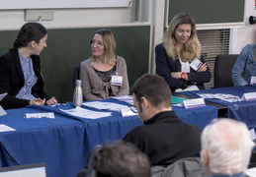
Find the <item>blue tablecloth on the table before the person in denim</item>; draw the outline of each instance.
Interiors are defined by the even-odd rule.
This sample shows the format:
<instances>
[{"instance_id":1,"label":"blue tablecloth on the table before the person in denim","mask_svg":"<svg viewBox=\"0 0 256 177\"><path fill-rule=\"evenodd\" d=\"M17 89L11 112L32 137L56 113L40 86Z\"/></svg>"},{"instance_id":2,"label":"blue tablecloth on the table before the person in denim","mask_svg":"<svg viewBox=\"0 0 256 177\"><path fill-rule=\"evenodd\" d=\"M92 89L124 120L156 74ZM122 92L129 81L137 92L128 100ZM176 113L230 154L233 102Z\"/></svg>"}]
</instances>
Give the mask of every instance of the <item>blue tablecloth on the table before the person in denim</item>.
<instances>
[{"instance_id":1,"label":"blue tablecloth on the table before the person in denim","mask_svg":"<svg viewBox=\"0 0 256 177\"><path fill-rule=\"evenodd\" d=\"M256 86L242 86L242 87L231 87L231 88L217 88L217 89L202 89L195 91L183 91L179 92L191 97L200 97L198 93L225 93L233 94L242 97L243 93L255 92ZM238 121L244 122L249 129L256 128L256 101L237 101L237 102L226 102L219 99L206 99L208 101L222 104L227 106L228 118L233 118Z\"/></svg>"}]
</instances>

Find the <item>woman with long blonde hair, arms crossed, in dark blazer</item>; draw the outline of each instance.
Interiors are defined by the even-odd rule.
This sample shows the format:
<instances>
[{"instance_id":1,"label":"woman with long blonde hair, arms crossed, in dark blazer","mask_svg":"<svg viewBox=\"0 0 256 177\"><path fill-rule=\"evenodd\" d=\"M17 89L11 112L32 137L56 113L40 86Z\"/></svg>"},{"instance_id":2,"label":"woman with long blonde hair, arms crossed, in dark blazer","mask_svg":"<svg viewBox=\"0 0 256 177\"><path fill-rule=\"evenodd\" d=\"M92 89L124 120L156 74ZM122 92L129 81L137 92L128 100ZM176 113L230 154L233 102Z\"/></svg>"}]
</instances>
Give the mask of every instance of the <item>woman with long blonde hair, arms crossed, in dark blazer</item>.
<instances>
[{"instance_id":1,"label":"woman with long blonde hair, arms crossed, in dark blazer","mask_svg":"<svg viewBox=\"0 0 256 177\"><path fill-rule=\"evenodd\" d=\"M164 78L172 92L205 89L210 69L201 53L194 19L186 13L174 16L163 43L155 47L156 74Z\"/></svg>"}]
</instances>

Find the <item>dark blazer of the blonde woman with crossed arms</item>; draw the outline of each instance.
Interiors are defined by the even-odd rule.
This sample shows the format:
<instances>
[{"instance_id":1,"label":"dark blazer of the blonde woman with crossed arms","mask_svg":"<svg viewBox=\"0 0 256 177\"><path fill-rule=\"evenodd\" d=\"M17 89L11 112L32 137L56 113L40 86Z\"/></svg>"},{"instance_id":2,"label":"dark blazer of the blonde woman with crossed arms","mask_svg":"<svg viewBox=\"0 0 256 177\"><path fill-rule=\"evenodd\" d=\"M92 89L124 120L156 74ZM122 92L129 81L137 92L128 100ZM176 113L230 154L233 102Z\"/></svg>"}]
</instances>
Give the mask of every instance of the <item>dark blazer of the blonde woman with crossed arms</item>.
<instances>
[{"instance_id":1,"label":"dark blazer of the blonde woman with crossed arms","mask_svg":"<svg viewBox=\"0 0 256 177\"><path fill-rule=\"evenodd\" d=\"M206 63L203 55L200 60ZM205 89L204 83L208 83L211 80L211 73L208 67L205 72L197 72L190 68L190 73L187 73L189 81L175 79L171 77L171 72L181 72L180 60L173 60L167 53L163 44L158 44L155 47L155 64L156 74L163 77L167 82L170 89L174 92L175 89L186 89L189 86L196 85L199 89Z\"/></svg>"}]
</instances>

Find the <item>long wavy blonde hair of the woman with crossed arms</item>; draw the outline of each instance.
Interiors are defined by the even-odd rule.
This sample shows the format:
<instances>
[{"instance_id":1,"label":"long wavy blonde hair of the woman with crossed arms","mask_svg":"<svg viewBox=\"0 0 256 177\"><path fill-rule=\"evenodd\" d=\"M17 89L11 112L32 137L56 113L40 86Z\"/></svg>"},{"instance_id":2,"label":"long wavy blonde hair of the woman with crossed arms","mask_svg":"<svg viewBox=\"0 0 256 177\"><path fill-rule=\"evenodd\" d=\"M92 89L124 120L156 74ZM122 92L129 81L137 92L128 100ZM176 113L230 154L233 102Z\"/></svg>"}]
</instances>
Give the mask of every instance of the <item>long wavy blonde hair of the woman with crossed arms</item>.
<instances>
[{"instance_id":1,"label":"long wavy blonde hair of the woman with crossed arms","mask_svg":"<svg viewBox=\"0 0 256 177\"><path fill-rule=\"evenodd\" d=\"M176 39L174 36L175 29L177 29L182 24L190 24L191 25L191 36L187 40L186 43L183 44L182 50L180 52L180 56L178 56L176 50ZM173 58L173 60L180 57L182 60L192 61L195 58L201 58L201 44L198 39L196 23L194 19L186 14L179 13L175 15L172 21L169 24L169 28L165 31L163 38L163 45L166 49L167 54Z\"/></svg>"}]
</instances>

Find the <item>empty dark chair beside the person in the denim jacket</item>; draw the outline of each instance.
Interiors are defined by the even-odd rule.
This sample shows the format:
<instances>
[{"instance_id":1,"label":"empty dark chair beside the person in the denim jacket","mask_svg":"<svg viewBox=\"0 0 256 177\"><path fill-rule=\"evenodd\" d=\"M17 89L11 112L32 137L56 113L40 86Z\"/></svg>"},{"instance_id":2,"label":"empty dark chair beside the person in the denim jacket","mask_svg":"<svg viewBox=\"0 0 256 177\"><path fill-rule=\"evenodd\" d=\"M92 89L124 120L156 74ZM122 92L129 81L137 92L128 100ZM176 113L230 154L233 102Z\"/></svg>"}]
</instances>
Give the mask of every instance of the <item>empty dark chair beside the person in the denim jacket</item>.
<instances>
[{"instance_id":1,"label":"empty dark chair beside the person in the denim jacket","mask_svg":"<svg viewBox=\"0 0 256 177\"><path fill-rule=\"evenodd\" d=\"M238 54L219 54L215 57L213 88L233 86L231 72L238 56Z\"/></svg>"}]
</instances>

